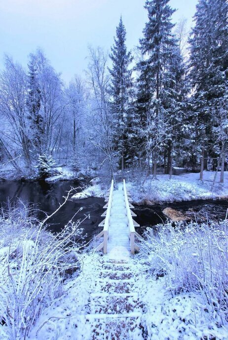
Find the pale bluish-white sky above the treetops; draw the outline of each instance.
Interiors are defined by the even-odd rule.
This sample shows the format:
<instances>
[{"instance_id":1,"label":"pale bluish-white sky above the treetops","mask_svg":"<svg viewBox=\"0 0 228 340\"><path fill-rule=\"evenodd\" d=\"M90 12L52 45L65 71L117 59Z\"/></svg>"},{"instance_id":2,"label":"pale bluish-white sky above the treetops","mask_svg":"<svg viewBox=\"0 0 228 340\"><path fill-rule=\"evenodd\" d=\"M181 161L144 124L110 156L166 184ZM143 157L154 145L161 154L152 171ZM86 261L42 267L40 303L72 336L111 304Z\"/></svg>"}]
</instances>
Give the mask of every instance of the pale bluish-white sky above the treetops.
<instances>
[{"instance_id":1,"label":"pale bluish-white sky above the treetops","mask_svg":"<svg viewBox=\"0 0 228 340\"><path fill-rule=\"evenodd\" d=\"M191 26L197 0L170 0L178 9L174 22ZM147 21L145 0L0 0L0 69L4 53L27 65L29 53L41 47L65 82L83 75L87 46L110 49L120 15L132 49Z\"/></svg>"}]
</instances>

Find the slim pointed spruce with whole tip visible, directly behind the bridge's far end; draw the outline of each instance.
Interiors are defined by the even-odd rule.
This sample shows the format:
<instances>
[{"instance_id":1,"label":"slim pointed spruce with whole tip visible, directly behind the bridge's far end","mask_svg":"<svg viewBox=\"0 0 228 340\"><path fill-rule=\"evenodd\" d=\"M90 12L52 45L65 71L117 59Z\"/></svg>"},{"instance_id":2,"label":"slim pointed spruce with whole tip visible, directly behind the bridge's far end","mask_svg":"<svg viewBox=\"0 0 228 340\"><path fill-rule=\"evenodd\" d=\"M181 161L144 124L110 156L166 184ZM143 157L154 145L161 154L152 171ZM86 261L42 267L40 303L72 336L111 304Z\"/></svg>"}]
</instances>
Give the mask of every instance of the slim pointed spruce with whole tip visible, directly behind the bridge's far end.
<instances>
[{"instance_id":1,"label":"slim pointed spruce with whole tip visible, directly behind the bridge's far end","mask_svg":"<svg viewBox=\"0 0 228 340\"><path fill-rule=\"evenodd\" d=\"M126 47L126 30L120 18L116 28L114 45L111 48L110 58L113 62L111 73L111 110L113 114L114 148L121 159L121 170L123 176L124 158L129 151L129 136L132 126L133 111L130 107L132 91L132 72L129 65L132 61L130 52Z\"/></svg>"}]
</instances>

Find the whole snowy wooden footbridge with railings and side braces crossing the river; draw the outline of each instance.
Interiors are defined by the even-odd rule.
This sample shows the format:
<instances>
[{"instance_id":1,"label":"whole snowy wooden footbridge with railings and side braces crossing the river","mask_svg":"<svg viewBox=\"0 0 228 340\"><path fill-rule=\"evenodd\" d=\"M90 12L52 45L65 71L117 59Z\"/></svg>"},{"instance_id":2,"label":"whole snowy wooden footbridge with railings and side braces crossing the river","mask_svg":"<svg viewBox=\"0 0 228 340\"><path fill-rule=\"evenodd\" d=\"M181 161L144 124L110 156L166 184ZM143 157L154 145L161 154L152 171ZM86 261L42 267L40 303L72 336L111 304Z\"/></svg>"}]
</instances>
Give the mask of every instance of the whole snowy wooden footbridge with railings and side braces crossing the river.
<instances>
[{"instance_id":1,"label":"whole snowy wooden footbridge with railings and side braces crossing the river","mask_svg":"<svg viewBox=\"0 0 228 340\"><path fill-rule=\"evenodd\" d=\"M135 254L139 247L135 244L135 238L141 236L135 231L136 223L132 217L136 216L131 211L131 196L126 189L126 183L118 183L117 190L114 190L114 180L111 188L106 195L106 210L102 217L105 219L99 224L103 230L97 235L97 239L103 237L103 242L96 247L96 251L103 250L104 254L128 255Z\"/></svg>"}]
</instances>

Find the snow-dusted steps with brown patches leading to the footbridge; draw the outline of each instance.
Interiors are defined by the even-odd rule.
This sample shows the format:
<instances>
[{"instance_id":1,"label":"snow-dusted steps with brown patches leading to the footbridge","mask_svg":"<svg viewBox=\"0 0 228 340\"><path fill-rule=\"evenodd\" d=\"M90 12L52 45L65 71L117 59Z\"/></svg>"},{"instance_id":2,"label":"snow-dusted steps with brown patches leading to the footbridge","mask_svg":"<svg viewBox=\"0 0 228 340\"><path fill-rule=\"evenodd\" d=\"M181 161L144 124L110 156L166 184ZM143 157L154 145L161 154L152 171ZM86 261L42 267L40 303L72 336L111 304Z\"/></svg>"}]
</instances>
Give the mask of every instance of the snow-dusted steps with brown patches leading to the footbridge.
<instances>
[{"instance_id":1,"label":"snow-dusted steps with brown patches leading to the footbridge","mask_svg":"<svg viewBox=\"0 0 228 340\"><path fill-rule=\"evenodd\" d=\"M78 339L143 339L138 275L130 259L100 258L88 292L88 310L78 319Z\"/></svg>"}]
</instances>

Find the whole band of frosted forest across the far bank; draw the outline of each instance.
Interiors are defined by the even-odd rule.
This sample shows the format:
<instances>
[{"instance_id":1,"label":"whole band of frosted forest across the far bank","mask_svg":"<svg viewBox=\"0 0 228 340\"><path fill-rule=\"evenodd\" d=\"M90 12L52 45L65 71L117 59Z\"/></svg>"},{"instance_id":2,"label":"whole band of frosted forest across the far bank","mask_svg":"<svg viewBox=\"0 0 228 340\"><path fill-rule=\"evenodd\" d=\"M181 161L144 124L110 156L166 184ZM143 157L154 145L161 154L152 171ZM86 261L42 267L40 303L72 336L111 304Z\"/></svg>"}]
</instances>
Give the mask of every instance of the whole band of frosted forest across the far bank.
<instances>
[{"instance_id":1,"label":"whole band of frosted forest across the far bank","mask_svg":"<svg viewBox=\"0 0 228 340\"><path fill-rule=\"evenodd\" d=\"M1 176L37 178L74 170L228 166L228 3L200 0L194 26L173 24L168 0L145 3L138 46L122 17L110 51L88 47L84 77L66 85L41 48L25 69L5 56L0 72ZM6 171L6 172L5 172ZM7 172L8 171L8 172ZM10 172L11 171L11 172ZM16 174L16 175L15 175Z\"/></svg>"}]
</instances>

